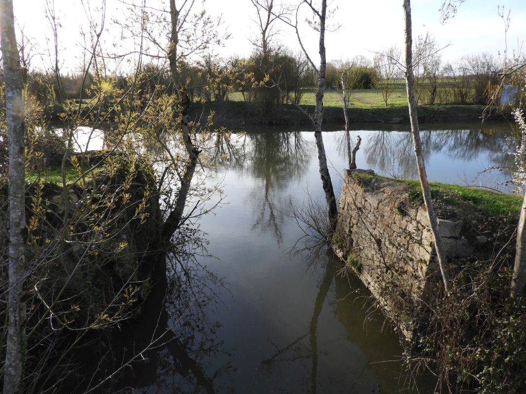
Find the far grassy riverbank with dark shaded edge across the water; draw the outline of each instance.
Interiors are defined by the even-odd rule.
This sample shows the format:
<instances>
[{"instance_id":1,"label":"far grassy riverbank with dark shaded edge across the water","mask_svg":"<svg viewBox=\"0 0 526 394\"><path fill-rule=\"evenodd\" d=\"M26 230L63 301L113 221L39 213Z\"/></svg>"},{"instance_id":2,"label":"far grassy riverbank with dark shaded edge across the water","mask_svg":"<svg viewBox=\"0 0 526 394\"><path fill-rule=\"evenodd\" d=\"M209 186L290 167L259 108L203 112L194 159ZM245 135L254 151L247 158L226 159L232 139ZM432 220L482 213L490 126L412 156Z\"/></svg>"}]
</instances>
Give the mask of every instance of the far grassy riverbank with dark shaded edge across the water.
<instances>
[{"instance_id":1,"label":"far grassy riverbank with dark shaded edge across the water","mask_svg":"<svg viewBox=\"0 0 526 394\"><path fill-rule=\"evenodd\" d=\"M315 92L312 89L306 89L301 99L301 107L308 113L313 113L315 101ZM73 104L79 105L78 102ZM326 90L323 105L325 107L323 122L341 125L345 123L341 91ZM80 102L80 108L83 111L89 110L89 107L88 100ZM201 119L208 112L214 111L215 125L227 128L242 127L243 124L310 125L310 120L295 105L284 104L269 113L267 110L259 108L257 103L244 101L240 92L230 92L227 101L196 102L193 108L193 117ZM484 106L479 105L419 106L418 116L420 122L481 121L484 108ZM49 118L58 121L58 113L63 110L57 104L48 114ZM348 114L350 121L355 123L409 123L405 89L397 86L387 107L379 89L354 90L351 94ZM488 117L488 120L504 120L504 116L494 113Z\"/></svg>"}]
</instances>

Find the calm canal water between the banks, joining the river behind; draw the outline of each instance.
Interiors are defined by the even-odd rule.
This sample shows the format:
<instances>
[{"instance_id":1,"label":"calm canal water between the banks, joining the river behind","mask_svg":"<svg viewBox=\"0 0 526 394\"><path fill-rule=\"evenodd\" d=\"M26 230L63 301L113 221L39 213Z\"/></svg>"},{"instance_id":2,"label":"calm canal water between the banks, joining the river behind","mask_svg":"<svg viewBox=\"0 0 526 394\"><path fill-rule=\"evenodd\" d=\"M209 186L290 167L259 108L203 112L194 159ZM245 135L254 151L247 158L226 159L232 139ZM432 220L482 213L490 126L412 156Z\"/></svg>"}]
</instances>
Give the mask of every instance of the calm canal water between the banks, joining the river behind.
<instances>
[{"instance_id":1,"label":"calm canal water between the banks, joining the river behind","mask_svg":"<svg viewBox=\"0 0 526 394\"><path fill-rule=\"evenodd\" d=\"M370 127L370 126L368 126ZM359 168L415 178L407 129L353 130ZM505 127L430 126L422 142L430 181L509 191L513 142ZM352 275L318 247L293 211L323 209L313 133L265 129L232 134L209 151L223 199L178 241L166 277L131 333L128 349L165 332L125 371L135 393L400 393L433 391L412 377L403 346ZM332 182L347 168L345 132L323 133ZM488 170L493 168L493 170ZM209 201L209 206L218 203ZM323 213L323 211L322 211ZM195 227L199 231L195 232ZM183 242L180 242L183 244ZM161 281L162 282L162 281Z\"/></svg>"}]
</instances>

